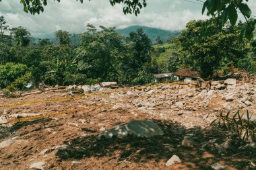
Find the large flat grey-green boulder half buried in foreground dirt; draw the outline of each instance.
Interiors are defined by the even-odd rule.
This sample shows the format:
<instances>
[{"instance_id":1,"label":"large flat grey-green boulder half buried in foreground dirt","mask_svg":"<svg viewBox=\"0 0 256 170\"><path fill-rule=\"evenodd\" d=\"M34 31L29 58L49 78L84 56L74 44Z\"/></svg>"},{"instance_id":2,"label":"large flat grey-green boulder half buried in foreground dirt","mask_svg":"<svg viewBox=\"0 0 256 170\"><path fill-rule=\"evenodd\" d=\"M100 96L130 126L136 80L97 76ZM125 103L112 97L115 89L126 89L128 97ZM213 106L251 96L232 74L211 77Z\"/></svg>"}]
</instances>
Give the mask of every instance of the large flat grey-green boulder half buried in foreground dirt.
<instances>
[{"instance_id":1,"label":"large flat grey-green boulder half buried in foreground dirt","mask_svg":"<svg viewBox=\"0 0 256 170\"><path fill-rule=\"evenodd\" d=\"M164 132L162 132L159 126L151 120L131 120L130 122L119 124L113 128L100 132L97 138L100 139L102 136L106 138L112 138L113 136L124 138L128 135L150 138L152 136L161 136L163 134Z\"/></svg>"}]
</instances>

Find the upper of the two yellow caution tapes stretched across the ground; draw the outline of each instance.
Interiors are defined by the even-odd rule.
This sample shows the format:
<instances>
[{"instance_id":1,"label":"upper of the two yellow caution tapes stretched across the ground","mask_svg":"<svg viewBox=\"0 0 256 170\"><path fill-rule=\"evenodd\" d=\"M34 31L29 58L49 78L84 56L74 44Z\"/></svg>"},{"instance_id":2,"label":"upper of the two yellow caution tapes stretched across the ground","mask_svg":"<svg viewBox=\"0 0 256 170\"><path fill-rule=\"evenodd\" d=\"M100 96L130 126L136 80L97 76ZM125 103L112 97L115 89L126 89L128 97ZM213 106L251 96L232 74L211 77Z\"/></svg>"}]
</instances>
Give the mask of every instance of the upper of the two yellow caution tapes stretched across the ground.
<instances>
[{"instance_id":1,"label":"upper of the two yellow caution tapes stretched across the ground","mask_svg":"<svg viewBox=\"0 0 256 170\"><path fill-rule=\"evenodd\" d=\"M168 83L164 85L183 85L185 83ZM117 91L110 91L110 92L100 92L100 93L90 93L86 95L75 95L75 96L70 96L70 97L59 97L59 98L53 98L53 99L42 99L42 100L36 100L36 101L25 101L21 103L9 103L9 104L4 104L0 105L0 108L4 107L9 107L13 105L27 105L27 104L32 104L32 103L44 103L48 101L59 101L59 100L65 100L65 99L75 99L75 98L81 98L81 97L87 97L87 96L94 96L94 95L104 95L104 94L110 94L110 93L119 93L119 92L125 92L125 91L135 91L138 89L147 89L147 88L155 88L155 87L160 87L164 86L162 84L160 85L151 85L151 86L146 86L146 87L137 87L135 89L125 89L125 90L117 90Z\"/></svg>"}]
</instances>

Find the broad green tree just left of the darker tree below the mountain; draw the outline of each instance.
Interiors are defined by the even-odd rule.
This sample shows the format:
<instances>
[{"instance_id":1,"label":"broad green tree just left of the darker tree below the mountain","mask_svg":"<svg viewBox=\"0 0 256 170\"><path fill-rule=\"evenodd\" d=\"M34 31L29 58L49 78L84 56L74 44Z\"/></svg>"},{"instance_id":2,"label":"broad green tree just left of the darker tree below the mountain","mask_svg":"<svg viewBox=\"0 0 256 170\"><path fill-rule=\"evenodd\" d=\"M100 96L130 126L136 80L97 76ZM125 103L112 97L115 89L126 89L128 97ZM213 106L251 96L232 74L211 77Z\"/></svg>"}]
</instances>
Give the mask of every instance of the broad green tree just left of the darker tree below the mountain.
<instances>
[{"instance_id":1,"label":"broad green tree just left of the darker tree below the mountain","mask_svg":"<svg viewBox=\"0 0 256 170\"><path fill-rule=\"evenodd\" d=\"M75 49L80 60L78 69L89 78L104 81L117 81L117 59L123 53L123 36L115 28L105 28L96 32L95 27L88 24L88 31L80 35L81 43Z\"/></svg>"}]
</instances>

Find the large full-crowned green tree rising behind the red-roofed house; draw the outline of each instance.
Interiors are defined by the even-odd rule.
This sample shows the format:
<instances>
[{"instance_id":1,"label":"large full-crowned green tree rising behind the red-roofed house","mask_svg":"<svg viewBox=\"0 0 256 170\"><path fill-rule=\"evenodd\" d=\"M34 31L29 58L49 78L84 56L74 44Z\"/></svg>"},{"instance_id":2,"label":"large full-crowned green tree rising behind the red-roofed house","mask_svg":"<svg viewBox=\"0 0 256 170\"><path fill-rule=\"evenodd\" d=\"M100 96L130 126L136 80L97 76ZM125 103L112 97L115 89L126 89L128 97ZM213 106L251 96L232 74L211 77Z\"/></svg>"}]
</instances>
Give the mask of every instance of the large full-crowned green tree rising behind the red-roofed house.
<instances>
[{"instance_id":1,"label":"large full-crowned green tree rising behind the red-roofed house","mask_svg":"<svg viewBox=\"0 0 256 170\"><path fill-rule=\"evenodd\" d=\"M221 62L237 63L247 54L247 41L238 41L242 26L223 29L218 22L218 18L189 22L178 39L184 64L199 69L202 77L212 75Z\"/></svg>"}]
</instances>

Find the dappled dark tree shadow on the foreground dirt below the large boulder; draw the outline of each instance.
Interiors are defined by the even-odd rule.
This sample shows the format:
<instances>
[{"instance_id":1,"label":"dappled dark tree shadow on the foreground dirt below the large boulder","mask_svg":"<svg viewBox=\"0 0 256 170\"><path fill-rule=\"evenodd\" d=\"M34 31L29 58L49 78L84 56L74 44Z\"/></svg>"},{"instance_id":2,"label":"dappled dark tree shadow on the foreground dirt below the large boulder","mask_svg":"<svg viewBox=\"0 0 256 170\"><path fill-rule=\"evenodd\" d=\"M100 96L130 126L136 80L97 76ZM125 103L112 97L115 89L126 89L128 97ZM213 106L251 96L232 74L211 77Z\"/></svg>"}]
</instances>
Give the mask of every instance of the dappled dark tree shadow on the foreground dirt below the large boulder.
<instances>
[{"instance_id":1,"label":"dappled dark tree shadow on the foreground dirt below the large boulder","mask_svg":"<svg viewBox=\"0 0 256 170\"><path fill-rule=\"evenodd\" d=\"M86 138L75 138L69 143L69 147L59 150L56 155L61 160L83 159L86 157L110 157L119 161L146 163L149 161L168 161L172 155L177 155L188 169L210 169L210 165L222 162L236 169L250 169L249 161L256 161L256 150L241 153L240 151L228 151L221 155L218 147L210 143L210 140L222 144L226 140L226 134L216 128L203 130L199 127L185 129L179 124L153 120L164 132L163 136L152 138L102 138L96 139L96 135ZM181 142L186 134L194 134L194 148L185 148ZM241 143L233 142L234 148Z\"/></svg>"}]
</instances>

